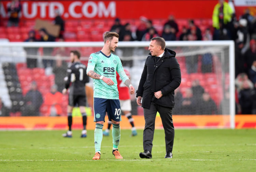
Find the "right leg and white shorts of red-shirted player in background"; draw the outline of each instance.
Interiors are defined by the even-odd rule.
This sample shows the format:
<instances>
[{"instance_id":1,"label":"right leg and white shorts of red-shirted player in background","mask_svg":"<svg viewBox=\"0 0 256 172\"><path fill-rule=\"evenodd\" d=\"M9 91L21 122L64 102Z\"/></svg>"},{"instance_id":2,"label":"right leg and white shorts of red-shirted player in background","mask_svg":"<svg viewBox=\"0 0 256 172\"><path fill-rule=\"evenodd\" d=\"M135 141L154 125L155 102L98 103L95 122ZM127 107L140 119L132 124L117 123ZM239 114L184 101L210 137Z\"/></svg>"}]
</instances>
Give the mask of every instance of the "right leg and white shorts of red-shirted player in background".
<instances>
[{"instance_id":1,"label":"right leg and white shorts of red-shirted player in background","mask_svg":"<svg viewBox=\"0 0 256 172\"><path fill-rule=\"evenodd\" d=\"M120 100L121 110L124 112L125 116L128 118L129 123L131 124L131 135L136 136L137 131L134 126L134 119L131 116L131 100Z\"/></svg>"}]
</instances>

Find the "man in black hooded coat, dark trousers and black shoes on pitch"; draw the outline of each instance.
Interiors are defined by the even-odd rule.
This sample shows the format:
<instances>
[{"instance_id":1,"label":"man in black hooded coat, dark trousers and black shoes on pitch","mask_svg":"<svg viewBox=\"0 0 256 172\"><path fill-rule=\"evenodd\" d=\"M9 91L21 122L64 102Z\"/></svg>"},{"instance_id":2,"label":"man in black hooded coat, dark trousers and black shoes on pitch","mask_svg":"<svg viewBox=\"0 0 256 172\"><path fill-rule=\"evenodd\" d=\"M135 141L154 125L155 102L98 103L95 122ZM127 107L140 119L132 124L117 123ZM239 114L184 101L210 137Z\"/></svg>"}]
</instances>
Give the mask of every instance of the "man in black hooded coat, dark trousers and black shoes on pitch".
<instances>
[{"instance_id":1,"label":"man in black hooded coat, dark trousers and black shoes on pitch","mask_svg":"<svg viewBox=\"0 0 256 172\"><path fill-rule=\"evenodd\" d=\"M152 38L148 50L150 50L150 56L145 61L136 95L137 104L143 107L145 119L144 152L140 153L140 157L152 158L155 118L156 113L159 112L165 129L165 158L172 158L174 139L172 108L174 107L174 90L181 83L181 69L175 58L176 53L165 48L163 38Z\"/></svg>"}]
</instances>

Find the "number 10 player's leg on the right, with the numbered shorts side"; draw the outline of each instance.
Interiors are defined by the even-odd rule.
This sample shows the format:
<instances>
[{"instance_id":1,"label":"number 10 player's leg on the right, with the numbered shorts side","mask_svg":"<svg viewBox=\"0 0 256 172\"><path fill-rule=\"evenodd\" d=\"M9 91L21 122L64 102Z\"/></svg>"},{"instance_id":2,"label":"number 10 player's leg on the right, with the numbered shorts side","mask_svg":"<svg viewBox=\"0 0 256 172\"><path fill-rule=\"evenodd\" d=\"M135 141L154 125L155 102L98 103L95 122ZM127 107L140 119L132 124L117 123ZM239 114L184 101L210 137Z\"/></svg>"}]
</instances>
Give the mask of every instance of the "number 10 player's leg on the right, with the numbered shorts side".
<instances>
[{"instance_id":1,"label":"number 10 player's leg on the right, with the numbered shorts side","mask_svg":"<svg viewBox=\"0 0 256 172\"><path fill-rule=\"evenodd\" d=\"M113 150L112 154L116 159L123 159L118 151L118 145L120 142L121 130L120 130L120 121L121 119L121 109L119 100L108 100L107 108L109 119L111 119L113 128L112 128L112 137L113 137Z\"/></svg>"}]
</instances>

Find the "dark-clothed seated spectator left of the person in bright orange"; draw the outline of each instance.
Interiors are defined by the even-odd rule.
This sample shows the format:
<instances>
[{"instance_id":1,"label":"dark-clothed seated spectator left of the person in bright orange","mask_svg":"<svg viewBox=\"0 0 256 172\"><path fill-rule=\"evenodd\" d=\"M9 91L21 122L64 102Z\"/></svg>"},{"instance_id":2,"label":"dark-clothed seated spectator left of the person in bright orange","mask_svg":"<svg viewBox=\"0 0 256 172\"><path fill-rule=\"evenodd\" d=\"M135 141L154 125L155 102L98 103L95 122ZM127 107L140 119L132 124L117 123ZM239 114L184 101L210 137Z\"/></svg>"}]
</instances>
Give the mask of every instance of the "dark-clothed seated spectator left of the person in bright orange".
<instances>
[{"instance_id":1,"label":"dark-clothed seated spectator left of the person in bright orange","mask_svg":"<svg viewBox=\"0 0 256 172\"><path fill-rule=\"evenodd\" d=\"M27 92L25 98L25 110L23 116L39 116L39 109L43 103L42 94L37 90L37 83L31 83L31 89Z\"/></svg>"}]
</instances>

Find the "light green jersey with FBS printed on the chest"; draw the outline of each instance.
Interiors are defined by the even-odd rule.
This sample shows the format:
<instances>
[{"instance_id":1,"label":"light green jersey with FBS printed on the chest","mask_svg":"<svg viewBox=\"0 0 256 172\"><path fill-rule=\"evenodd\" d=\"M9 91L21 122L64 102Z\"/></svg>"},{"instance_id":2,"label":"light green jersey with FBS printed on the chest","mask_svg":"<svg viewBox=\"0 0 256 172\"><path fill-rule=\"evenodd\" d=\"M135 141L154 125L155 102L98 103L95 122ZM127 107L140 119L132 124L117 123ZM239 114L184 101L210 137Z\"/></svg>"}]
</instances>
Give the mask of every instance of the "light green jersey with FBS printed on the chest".
<instances>
[{"instance_id":1,"label":"light green jersey with FBS printed on the chest","mask_svg":"<svg viewBox=\"0 0 256 172\"><path fill-rule=\"evenodd\" d=\"M120 58L117 55L110 54L106 56L101 51L93 53L89 57L86 73L90 70L99 75L110 78L115 84L108 85L102 80L93 79L94 96L103 99L119 99L116 72L123 82L129 78L125 74Z\"/></svg>"}]
</instances>

